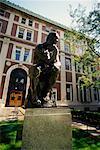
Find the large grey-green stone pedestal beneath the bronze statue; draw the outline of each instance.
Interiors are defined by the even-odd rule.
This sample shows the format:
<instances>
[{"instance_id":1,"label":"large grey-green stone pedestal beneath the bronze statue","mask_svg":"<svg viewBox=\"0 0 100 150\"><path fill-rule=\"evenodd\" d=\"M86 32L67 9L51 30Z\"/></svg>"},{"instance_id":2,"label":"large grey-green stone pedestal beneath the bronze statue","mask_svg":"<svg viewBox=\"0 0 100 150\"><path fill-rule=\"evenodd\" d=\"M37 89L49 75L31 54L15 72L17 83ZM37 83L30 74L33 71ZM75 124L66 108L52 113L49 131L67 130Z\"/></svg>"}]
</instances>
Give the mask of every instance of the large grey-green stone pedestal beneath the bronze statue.
<instances>
[{"instance_id":1,"label":"large grey-green stone pedestal beneath the bronze statue","mask_svg":"<svg viewBox=\"0 0 100 150\"><path fill-rule=\"evenodd\" d=\"M27 109L22 150L71 150L71 114L65 108Z\"/></svg>"}]
</instances>

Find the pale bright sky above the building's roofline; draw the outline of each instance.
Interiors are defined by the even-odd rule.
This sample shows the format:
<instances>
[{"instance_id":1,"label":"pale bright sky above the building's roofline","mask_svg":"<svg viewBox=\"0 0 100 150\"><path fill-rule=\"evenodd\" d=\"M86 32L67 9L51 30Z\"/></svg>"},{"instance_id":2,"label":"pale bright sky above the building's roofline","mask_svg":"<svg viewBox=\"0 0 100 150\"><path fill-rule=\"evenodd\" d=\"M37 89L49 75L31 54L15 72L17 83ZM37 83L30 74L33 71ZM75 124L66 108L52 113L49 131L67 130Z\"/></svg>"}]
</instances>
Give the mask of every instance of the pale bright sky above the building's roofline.
<instances>
[{"instance_id":1,"label":"pale bright sky above the building's roofline","mask_svg":"<svg viewBox=\"0 0 100 150\"><path fill-rule=\"evenodd\" d=\"M89 11L96 0L9 0L19 6L56 21L67 27L71 26L71 18L68 14L69 5L74 8L80 3Z\"/></svg>"}]
</instances>

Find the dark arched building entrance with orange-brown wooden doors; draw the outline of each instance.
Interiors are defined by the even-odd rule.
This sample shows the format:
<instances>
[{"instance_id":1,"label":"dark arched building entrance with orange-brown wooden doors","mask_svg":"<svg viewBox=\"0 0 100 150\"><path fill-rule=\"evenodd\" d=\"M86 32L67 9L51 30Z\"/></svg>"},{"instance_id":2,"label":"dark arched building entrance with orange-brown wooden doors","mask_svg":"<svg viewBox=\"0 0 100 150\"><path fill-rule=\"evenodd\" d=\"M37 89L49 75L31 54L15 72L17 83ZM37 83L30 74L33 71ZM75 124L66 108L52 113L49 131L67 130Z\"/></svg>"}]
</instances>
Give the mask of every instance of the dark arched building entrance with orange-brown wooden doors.
<instances>
[{"instance_id":1,"label":"dark arched building entrance with orange-brown wooden doors","mask_svg":"<svg viewBox=\"0 0 100 150\"><path fill-rule=\"evenodd\" d=\"M11 72L6 106L21 106L26 93L27 73L17 68Z\"/></svg>"}]
</instances>

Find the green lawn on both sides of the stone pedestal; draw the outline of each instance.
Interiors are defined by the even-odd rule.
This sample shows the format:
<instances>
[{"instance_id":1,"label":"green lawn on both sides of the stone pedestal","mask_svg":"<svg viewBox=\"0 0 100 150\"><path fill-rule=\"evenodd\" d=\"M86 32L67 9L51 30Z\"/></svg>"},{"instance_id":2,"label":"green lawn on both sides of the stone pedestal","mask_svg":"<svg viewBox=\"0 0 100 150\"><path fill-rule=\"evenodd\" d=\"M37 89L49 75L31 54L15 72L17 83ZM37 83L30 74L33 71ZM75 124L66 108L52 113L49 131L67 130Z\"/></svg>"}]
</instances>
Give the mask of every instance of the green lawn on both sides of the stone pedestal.
<instances>
[{"instance_id":1,"label":"green lawn on both sides of the stone pedestal","mask_svg":"<svg viewBox=\"0 0 100 150\"><path fill-rule=\"evenodd\" d=\"M0 123L0 150L21 150L23 121ZM73 150L100 150L100 136L73 128Z\"/></svg>"}]
</instances>

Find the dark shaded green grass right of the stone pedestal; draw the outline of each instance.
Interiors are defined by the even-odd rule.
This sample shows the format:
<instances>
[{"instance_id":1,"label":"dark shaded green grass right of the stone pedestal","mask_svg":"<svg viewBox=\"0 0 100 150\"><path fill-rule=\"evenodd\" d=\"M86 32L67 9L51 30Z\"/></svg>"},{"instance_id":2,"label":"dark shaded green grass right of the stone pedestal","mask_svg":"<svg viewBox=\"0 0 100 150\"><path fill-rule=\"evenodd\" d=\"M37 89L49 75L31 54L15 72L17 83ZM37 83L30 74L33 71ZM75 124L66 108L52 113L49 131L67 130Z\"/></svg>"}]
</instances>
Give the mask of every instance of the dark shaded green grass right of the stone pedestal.
<instances>
[{"instance_id":1,"label":"dark shaded green grass right of the stone pedestal","mask_svg":"<svg viewBox=\"0 0 100 150\"><path fill-rule=\"evenodd\" d=\"M92 136L90 132L73 129L73 150L100 150L100 136Z\"/></svg>"}]
</instances>

